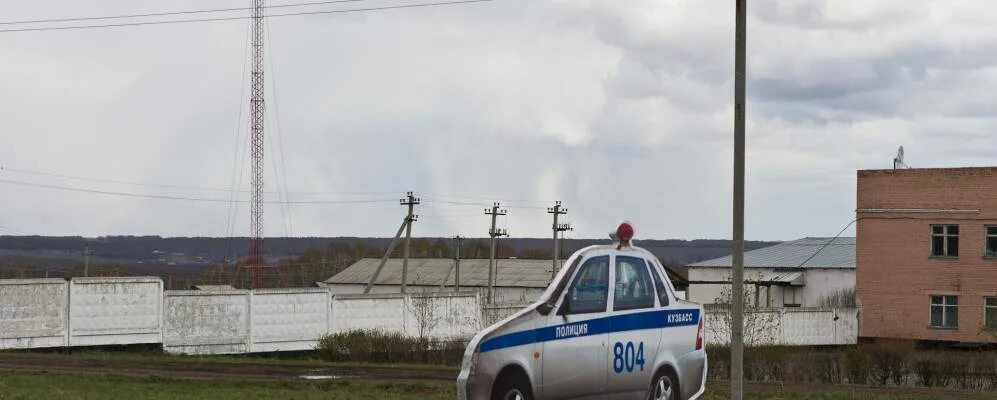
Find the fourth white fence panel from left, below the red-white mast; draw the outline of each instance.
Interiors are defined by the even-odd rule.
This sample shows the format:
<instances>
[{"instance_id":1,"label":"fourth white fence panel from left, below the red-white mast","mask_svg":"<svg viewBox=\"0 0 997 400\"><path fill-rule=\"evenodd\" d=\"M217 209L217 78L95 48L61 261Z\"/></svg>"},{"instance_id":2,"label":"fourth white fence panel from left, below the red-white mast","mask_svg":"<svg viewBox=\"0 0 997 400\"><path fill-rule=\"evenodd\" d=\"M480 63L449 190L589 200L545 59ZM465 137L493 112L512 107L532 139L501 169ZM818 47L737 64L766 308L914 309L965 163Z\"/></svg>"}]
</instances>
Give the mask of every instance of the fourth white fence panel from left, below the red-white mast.
<instances>
[{"instance_id":1,"label":"fourth white fence panel from left, below the red-white mast","mask_svg":"<svg viewBox=\"0 0 997 400\"><path fill-rule=\"evenodd\" d=\"M330 330L328 288L254 290L251 297L253 352L311 350Z\"/></svg>"}]
</instances>

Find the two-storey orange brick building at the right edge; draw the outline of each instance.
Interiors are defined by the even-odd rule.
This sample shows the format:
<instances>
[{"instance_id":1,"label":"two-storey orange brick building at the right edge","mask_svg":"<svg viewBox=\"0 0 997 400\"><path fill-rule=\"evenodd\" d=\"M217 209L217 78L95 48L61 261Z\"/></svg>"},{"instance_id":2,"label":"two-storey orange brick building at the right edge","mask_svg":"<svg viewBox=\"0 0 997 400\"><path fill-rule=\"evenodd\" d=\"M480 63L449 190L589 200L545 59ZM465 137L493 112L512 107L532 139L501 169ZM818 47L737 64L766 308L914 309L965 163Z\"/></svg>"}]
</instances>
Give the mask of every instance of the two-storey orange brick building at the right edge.
<instances>
[{"instance_id":1,"label":"two-storey orange brick building at the right edge","mask_svg":"<svg viewBox=\"0 0 997 400\"><path fill-rule=\"evenodd\" d=\"M997 167L858 171L866 338L997 342Z\"/></svg>"}]
</instances>

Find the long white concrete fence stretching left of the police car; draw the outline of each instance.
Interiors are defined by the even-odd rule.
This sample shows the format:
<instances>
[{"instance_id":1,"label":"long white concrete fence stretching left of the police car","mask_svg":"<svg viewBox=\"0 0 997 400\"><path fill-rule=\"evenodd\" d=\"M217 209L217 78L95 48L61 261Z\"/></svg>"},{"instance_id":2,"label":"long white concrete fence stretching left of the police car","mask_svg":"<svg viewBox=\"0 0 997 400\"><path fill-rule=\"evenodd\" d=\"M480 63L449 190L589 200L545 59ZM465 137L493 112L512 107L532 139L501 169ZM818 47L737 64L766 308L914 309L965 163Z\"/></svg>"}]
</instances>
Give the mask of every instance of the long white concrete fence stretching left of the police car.
<instances>
[{"instance_id":1,"label":"long white concrete fence stretching left of the police car","mask_svg":"<svg viewBox=\"0 0 997 400\"><path fill-rule=\"evenodd\" d=\"M159 278L0 280L0 350L162 343L171 353L310 350L328 333L381 329L467 339L472 293L339 295L329 288L163 290Z\"/></svg>"}]
</instances>

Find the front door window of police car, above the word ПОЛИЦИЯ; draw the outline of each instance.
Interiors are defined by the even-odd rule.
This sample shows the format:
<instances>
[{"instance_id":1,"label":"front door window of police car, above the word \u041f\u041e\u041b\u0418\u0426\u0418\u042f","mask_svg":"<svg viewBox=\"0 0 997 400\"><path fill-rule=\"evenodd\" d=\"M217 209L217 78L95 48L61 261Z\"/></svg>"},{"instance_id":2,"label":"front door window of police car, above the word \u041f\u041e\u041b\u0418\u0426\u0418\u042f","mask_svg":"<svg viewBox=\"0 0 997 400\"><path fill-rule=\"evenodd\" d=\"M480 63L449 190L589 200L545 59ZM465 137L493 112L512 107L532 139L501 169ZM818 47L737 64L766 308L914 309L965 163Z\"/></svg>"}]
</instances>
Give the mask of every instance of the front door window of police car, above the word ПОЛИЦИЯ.
<instances>
[{"instance_id":1,"label":"front door window of police car, above the word \u041f\u041e\u041b\u0418\u0426\u0418\u042f","mask_svg":"<svg viewBox=\"0 0 997 400\"><path fill-rule=\"evenodd\" d=\"M578 267L558 314L606 311L609 297L609 256L592 257Z\"/></svg>"}]
</instances>

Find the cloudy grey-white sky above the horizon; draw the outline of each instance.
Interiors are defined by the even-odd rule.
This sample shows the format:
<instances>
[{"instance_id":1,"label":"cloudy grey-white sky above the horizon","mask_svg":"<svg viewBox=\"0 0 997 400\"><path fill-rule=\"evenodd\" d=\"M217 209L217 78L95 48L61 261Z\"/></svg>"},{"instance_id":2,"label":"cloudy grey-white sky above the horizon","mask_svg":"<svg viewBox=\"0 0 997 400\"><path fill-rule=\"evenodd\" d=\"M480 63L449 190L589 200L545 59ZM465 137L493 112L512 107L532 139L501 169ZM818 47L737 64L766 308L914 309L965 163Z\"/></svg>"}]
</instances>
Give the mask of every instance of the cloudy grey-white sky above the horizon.
<instances>
[{"instance_id":1,"label":"cloudy grey-white sky above the horizon","mask_svg":"<svg viewBox=\"0 0 997 400\"><path fill-rule=\"evenodd\" d=\"M0 15L249 5L14 1ZM485 236L484 209L500 201L512 237L548 237L560 200L567 237L630 220L638 238L730 238L733 11L733 0L494 0L271 18L265 235L391 236L414 191L414 236ZM892 168L901 145L913 167L993 165L997 5L748 11L748 239L838 233L854 219L856 170ZM0 32L0 234L247 235L248 27Z\"/></svg>"}]
</instances>

